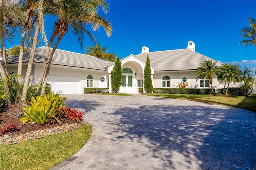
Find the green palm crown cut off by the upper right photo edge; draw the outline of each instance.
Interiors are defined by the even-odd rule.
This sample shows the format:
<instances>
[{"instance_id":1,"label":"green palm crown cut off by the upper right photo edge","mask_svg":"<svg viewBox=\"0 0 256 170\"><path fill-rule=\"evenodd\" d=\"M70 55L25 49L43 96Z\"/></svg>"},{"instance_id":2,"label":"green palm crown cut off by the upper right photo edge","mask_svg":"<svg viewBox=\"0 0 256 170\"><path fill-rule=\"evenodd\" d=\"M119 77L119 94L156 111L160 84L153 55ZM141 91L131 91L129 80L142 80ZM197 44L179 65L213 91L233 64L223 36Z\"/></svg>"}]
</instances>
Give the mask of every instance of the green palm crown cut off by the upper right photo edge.
<instances>
[{"instance_id":1,"label":"green palm crown cut off by the upper right photo edge","mask_svg":"<svg viewBox=\"0 0 256 170\"><path fill-rule=\"evenodd\" d=\"M256 11L255 11L256 16ZM245 38L244 41L241 41L239 44L244 44L246 46L247 44L252 44L256 46L256 20L254 18L249 17L248 21L250 22L250 27L245 27L241 30L242 38Z\"/></svg>"}]
</instances>

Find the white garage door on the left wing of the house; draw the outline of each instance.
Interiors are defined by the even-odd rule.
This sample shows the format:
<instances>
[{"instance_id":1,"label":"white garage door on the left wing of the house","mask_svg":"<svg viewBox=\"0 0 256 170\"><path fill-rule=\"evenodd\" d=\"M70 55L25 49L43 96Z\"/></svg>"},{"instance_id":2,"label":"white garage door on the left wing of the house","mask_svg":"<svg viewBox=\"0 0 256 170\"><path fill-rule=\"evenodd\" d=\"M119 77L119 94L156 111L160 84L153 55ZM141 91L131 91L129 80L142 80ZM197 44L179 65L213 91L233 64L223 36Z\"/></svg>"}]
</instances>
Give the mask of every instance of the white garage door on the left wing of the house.
<instances>
[{"instance_id":1,"label":"white garage door on the left wing of the house","mask_svg":"<svg viewBox=\"0 0 256 170\"><path fill-rule=\"evenodd\" d=\"M80 78L74 76L56 76L49 75L48 81L51 84L52 91L62 92L61 94L79 94Z\"/></svg>"}]
</instances>

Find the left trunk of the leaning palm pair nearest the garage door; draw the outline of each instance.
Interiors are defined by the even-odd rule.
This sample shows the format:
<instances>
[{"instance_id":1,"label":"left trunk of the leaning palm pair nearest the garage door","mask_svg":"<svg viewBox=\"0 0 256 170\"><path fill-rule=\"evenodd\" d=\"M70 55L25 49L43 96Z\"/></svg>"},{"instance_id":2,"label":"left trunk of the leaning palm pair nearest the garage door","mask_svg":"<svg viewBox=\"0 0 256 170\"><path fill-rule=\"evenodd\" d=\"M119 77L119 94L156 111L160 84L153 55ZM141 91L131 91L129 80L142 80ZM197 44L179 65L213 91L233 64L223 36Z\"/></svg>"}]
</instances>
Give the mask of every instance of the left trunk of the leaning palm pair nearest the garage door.
<instances>
[{"instance_id":1,"label":"left trunk of the leaning palm pair nearest the garage door","mask_svg":"<svg viewBox=\"0 0 256 170\"><path fill-rule=\"evenodd\" d=\"M43 65L42 72L41 72L41 75L40 75L40 78L39 78L39 81L38 81L38 87L37 87L37 90L36 90L36 96L40 96L40 94L41 94L42 82L43 82L43 79L44 79L44 73L45 73L45 70L46 70L50 49L51 49L51 46L52 46L52 42L53 42L53 40L54 40L54 38L56 37L57 34L58 34L58 25L55 24L54 25L54 30L52 31L52 37L51 37L51 39L49 41L49 44L48 44L48 47L47 47L47 51L46 51L46 54L45 54L44 65Z\"/></svg>"}]
</instances>

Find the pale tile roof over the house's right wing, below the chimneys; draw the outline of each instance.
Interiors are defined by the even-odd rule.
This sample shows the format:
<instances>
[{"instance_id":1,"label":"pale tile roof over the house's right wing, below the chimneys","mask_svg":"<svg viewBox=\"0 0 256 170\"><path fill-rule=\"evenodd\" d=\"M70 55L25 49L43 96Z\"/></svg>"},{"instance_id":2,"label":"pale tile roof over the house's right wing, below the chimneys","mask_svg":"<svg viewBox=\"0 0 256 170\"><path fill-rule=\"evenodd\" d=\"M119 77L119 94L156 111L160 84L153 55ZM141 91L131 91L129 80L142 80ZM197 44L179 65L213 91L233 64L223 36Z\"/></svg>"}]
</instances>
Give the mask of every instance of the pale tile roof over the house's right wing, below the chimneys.
<instances>
[{"instance_id":1,"label":"pale tile roof over the house's right wing, below the chimneys","mask_svg":"<svg viewBox=\"0 0 256 170\"><path fill-rule=\"evenodd\" d=\"M190 49L141 53L135 57L146 63L147 55L150 59L150 66L155 71L196 70L199 63L211 59ZM212 60L214 61L214 59ZM217 65L221 64L217 61Z\"/></svg>"}]
</instances>

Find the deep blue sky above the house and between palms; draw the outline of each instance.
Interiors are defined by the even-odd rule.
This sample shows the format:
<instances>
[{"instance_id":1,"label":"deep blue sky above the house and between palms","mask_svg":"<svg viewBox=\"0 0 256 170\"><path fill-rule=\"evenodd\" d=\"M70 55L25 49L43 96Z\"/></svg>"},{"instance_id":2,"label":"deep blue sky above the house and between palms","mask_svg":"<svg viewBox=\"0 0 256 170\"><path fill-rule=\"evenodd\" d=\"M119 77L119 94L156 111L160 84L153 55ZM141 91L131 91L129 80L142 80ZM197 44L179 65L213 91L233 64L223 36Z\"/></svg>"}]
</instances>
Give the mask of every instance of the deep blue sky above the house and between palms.
<instances>
[{"instance_id":1,"label":"deep blue sky above the house and between palms","mask_svg":"<svg viewBox=\"0 0 256 170\"><path fill-rule=\"evenodd\" d=\"M198 53L255 70L256 47L239 45L243 40L240 30L249 25L247 18L255 18L255 0L107 2L110 12L104 16L112 23L112 36L107 37L103 28L92 33L102 47L108 47L108 52L115 52L121 59L139 54L142 46L149 47L150 51L184 49L191 40ZM52 18L46 18L48 39L53 23ZM81 50L70 30L57 48L84 53L89 45L93 44L86 37ZM6 43L6 48L10 47L12 45Z\"/></svg>"}]
</instances>

